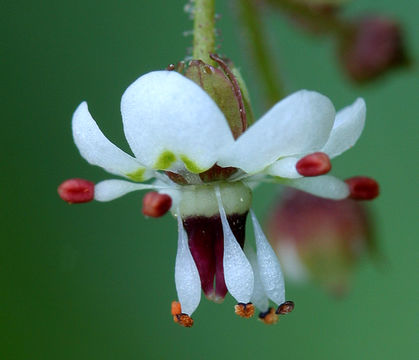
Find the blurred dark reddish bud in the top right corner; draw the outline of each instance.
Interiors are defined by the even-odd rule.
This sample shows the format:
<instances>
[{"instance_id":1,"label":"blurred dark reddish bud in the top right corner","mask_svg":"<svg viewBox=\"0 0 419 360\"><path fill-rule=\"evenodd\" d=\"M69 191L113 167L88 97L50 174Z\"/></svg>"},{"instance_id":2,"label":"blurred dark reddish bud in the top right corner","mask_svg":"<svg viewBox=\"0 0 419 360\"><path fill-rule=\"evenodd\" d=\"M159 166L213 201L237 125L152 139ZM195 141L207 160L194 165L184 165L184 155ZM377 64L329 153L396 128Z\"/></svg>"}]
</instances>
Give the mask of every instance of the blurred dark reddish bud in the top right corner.
<instances>
[{"instance_id":1,"label":"blurred dark reddish bud in the top right corner","mask_svg":"<svg viewBox=\"0 0 419 360\"><path fill-rule=\"evenodd\" d=\"M353 25L349 35L341 39L339 56L348 75L357 82L408 63L399 25L378 16Z\"/></svg>"}]
</instances>

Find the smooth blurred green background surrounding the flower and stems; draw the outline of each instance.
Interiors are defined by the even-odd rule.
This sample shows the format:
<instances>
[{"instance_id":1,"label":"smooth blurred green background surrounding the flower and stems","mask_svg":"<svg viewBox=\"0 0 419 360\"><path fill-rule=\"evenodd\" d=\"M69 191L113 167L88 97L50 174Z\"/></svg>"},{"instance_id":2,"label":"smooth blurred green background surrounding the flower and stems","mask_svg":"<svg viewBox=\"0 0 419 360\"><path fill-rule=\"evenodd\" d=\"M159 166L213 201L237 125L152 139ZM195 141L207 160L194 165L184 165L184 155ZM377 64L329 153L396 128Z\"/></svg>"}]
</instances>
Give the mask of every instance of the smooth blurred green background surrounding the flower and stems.
<instances>
[{"instance_id":1,"label":"smooth blurred green background surrounding the flower and stems","mask_svg":"<svg viewBox=\"0 0 419 360\"><path fill-rule=\"evenodd\" d=\"M417 359L417 68L362 88L341 74L329 40L306 36L271 15L272 49L288 90L315 89L337 108L363 96L367 126L334 163L340 177L379 179L371 204L386 266L367 259L341 301L291 284L296 311L274 326L238 318L233 300L206 300L195 325L174 324L176 224L144 219L142 194L69 206L66 178L110 178L75 148L71 115L87 100L101 129L125 149L119 101L139 75L183 59L192 28L185 1L2 1L0 358L12 359ZM419 58L414 1L358 0L348 13L379 10L400 19ZM254 100L256 74L237 39L228 1L218 1L222 52L242 67ZM256 106L260 115L265 109ZM268 211L272 186L256 191Z\"/></svg>"}]
</instances>

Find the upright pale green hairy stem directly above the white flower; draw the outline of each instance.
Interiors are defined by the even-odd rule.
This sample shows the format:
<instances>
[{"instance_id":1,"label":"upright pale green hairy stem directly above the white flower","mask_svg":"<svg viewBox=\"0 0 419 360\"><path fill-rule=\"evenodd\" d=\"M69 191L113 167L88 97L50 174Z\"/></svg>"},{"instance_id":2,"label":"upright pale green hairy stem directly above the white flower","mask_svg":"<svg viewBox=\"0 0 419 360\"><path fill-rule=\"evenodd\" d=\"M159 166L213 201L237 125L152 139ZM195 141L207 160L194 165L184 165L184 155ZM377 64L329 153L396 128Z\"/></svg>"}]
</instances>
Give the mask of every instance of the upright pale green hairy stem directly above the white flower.
<instances>
[{"instance_id":1,"label":"upright pale green hairy stem directly above the white flower","mask_svg":"<svg viewBox=\"0 0 419 360\"><path fill-rule=\"evenodd\" d=\"M192 56L213 65L215 51L215 0L195 0Z\"/></svg>"}]
</instances>

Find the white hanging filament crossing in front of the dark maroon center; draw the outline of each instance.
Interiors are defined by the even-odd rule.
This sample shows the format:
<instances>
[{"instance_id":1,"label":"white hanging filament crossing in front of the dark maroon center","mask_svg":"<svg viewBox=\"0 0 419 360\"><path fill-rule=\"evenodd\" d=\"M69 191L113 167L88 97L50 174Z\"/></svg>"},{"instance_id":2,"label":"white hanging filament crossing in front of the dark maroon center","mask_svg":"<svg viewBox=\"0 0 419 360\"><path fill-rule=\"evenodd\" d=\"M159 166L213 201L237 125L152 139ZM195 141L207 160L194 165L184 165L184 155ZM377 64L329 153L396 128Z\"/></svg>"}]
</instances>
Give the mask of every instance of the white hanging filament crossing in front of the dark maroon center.
<instances>
[{"instance_id":1,"label":"white hanging filament crossing in front of the dark maroon center","mask_svg":"<svg viewBox=\"0 0 419 360\"><path fill-rule=\"evenodd\" d=\"M250 302L253 294L254 277L252 266L231 231L218 187L216 188L216 196L224 235L224 280L228 291L237 302L247 304Z\"/></svg>"}]
</instances>

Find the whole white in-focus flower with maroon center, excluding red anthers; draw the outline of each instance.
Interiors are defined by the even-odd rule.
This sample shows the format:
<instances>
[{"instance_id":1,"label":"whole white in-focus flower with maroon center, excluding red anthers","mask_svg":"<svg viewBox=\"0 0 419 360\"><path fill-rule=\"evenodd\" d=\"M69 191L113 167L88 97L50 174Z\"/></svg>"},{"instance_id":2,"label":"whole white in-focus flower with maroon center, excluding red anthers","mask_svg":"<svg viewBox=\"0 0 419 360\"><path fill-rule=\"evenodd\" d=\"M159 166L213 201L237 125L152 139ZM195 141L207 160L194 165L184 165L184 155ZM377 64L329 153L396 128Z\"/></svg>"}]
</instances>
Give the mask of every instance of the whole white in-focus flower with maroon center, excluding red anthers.
<instances>
[{"instance_id":1,"label":"whole white in-focus flower with maroon center, excluding red anthers","mask_svg":"<svg viewBox=\"0 0 419 360\"><path fill-rule=\"evenodd\" d=\"M175 280L182 313L190 316L196 309L201 285L213 300L228 290L245 305L259 299L256 305L266 307L268 301L261 300L265 296L281 305L281 268L253 212L256 261L251 264L242 251L250 185L273 176L315 195L347 197L345 182L330 175L302 177L296 163L319 151L333 158L353 146L364 126L364 101L358 99L335 116L328 98L302 90L280 101L235 140L204 90L174 71L156 71L129 86L121 113L134 157L103 135L85 102L73 115L74 141L90 164L134 181L102 181L95 186L96 200L150 188L172 197L179 224ZM214 169L222 176L204 182L200 174ZM156 181L141 183L151 178Z\"/></svg>"}]
</instances>

